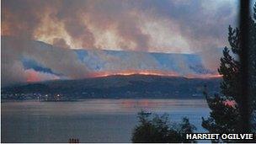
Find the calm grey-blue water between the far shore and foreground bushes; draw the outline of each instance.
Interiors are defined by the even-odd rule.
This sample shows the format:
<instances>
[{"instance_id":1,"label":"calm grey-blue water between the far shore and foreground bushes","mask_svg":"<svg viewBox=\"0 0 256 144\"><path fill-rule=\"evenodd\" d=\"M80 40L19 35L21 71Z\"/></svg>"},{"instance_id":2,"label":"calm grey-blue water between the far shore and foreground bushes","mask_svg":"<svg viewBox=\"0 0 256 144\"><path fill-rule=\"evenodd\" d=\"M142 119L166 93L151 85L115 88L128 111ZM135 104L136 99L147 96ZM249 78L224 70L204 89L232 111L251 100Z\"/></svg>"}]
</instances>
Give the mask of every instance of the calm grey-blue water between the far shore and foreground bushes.
<instances>
[{"instance_id":1,"label":"calm grey-blue water between the far shore and foreground bushes","mask_svg":"<svg viewBox=\"0 0 256 144\"><path fill-rule=\"evenodd\" d=\"M2 103L3 142L130 142L141 109L173 121L189 117L199 130L209 114L202 99L86 99L77 102Z\"/></svg>"}]
</instances>

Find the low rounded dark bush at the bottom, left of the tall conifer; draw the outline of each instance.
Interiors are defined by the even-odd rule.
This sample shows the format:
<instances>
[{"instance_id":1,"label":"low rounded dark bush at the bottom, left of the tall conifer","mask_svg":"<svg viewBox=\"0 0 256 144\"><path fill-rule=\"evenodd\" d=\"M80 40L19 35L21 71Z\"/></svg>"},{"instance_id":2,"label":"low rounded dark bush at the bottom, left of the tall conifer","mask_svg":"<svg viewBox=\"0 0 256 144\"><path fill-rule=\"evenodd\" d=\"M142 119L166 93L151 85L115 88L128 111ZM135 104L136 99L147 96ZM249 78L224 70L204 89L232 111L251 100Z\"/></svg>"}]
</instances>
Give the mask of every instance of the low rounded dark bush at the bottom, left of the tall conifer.
<instances>
[{"instance_id":1,"label":"low rounded dark bush at the bottom, left of the tall conifer","mask_svg":"<svg viewBox=\"0 0 256 144\"><path fill-rule=\"evenodd\" d=\"M195 126L184 118L179 125L170 125L168 115L152 116L141 111L138 114L139 125L132 133L132 142L195 142L186 140L186 133L194 133Z\"/></svg>"}]
</instances>

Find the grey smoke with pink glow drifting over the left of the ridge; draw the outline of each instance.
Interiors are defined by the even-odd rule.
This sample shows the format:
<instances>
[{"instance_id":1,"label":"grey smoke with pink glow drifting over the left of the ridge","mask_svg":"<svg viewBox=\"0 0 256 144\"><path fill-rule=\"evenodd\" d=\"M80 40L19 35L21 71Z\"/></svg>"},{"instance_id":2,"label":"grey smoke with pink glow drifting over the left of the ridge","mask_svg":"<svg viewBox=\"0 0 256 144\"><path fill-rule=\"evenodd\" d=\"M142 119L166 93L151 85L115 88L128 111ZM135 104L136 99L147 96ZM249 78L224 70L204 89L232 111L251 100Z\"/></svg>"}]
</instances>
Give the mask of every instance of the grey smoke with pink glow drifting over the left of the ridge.
<instances>
[{"instance_id":1,"label":"grey smoke with pink glow drifting over the left of the ridge","mask_svg":"<svg viewBox=\"0 0 256 144\"><path fill-rule=\"evenodd\" d=\"M33 77L40 80L64 78L82 78L88 76L88 69L78 61L77 55L70 49L40 44L42 42L3 36L2 40L2 84L29 82ZM29 58L50 68L57 75L36 73L24 69L22 59ZM29 75L30 74L30 75Z\"/></svg>"}]
</instances>

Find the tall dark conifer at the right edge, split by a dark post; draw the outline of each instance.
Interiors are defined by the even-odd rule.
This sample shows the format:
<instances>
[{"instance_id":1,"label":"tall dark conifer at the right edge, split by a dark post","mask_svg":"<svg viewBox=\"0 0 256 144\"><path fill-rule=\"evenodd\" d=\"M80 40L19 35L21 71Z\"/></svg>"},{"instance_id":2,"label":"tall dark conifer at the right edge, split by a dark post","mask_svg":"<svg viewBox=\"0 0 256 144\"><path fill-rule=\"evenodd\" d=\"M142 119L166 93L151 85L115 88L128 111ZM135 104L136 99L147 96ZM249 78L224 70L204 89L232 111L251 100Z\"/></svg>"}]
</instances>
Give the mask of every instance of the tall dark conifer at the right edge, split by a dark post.
<instances>
[{"instance_id":1,"label":"tall dark conifer at the right edge, split by a dark post","mask_svg":"<svg viewBox=\"0 0 256 144\"><path fill-rule=\"evenodd\" d=\"M251 113L255 111L256 96L256 3L254 4L253 19L249 20L249 98L252 102ZM228 28L228 41L230 48L225 47L221 57L221 66L218 72L222 75L221 94L209 97L205 90L205 97L209 108L210 117L206 120L202 118L202 126L210 133L239 133L242 131L239 123L241 122L240 103L243 99L241 94L241 63L238 56L241 53L241 35L239 29ZM231 51L230 51L231 50ZM232 52L232 53L230 53ZM253 115L252 122L255 120ZM222 140L230 142L228 140ZM217 142L217 141L213 141Z\"/></svg>"}]
</instances>

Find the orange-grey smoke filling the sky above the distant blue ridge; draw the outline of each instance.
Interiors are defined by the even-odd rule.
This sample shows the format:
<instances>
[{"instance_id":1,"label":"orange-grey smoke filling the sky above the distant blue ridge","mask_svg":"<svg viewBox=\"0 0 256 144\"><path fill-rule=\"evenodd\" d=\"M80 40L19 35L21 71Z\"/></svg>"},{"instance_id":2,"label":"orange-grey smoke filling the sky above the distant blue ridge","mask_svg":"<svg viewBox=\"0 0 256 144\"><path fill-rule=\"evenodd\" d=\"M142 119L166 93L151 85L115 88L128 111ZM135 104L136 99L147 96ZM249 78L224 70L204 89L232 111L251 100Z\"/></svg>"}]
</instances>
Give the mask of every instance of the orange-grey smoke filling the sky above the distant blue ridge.
<instances>
[{"instance_id":1,"label":"orange-grey smoke filling the sky above the distant blue ridge","mask_svg":"<svg viewBox=\"0 0 256 144\"><path fill-rule=\"evenodd\" d=\"M190 51L205 51L210 47L212 49L227 44L227 26L236 24L236 5L236 1L230 0L8 0L3 1L2 5L3 35L28 35L42 40L44 40L42 37L48 35L52 39L46 42L51 44L53 39L58 37L66 40L72 48L87 49L109 49L112 45L109 45L107 40L105 45L99 45L98 40L103 37L105 39L114 37L109 41L116 46L114 49L179 51L173 49L175 44L156 45L157 37L160 35L152 30L154 27L163 27L168 23L170 31L167 29L165 33L170 38L165 41L171 40L177 43L180 37L184 39L183 43L189 45ZM46 25L45 21L52 21L63 27L62 31L67 35L53 33L52 31L57 30L49 25L47 30L40 31L39 34L38 29L42 29L39 25L44 27L41 23ZM152 25L155 21L158 24L152 29L145 28L146 24ZM173 25L178 26L171 29ZM179 49L187 49L181 47L184 45L179 45Z\"/></svg>"}]
</instances>

